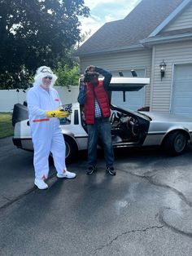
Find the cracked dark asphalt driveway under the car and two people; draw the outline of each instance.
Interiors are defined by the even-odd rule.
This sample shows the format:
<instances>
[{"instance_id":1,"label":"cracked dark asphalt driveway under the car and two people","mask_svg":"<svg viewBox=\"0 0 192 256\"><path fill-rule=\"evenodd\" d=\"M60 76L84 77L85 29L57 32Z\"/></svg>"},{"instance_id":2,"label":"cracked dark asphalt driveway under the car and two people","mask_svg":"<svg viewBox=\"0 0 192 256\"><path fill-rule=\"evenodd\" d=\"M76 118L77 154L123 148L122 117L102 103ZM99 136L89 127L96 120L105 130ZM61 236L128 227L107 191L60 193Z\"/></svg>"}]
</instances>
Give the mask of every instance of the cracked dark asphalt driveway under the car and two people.
<instances>
[{"instance_id":1,"label":"cracked dark asphalt driveway under the car and two people","mask_svg":"<svg viewBox=\"0 0 192 256\"><path fill-rule=\"evenodd\" d=\"M0 255L192 255L192 148L116 151L116 177L85 175L33 187L33 154L0 140Z\"/></svg>"}]
</instances>

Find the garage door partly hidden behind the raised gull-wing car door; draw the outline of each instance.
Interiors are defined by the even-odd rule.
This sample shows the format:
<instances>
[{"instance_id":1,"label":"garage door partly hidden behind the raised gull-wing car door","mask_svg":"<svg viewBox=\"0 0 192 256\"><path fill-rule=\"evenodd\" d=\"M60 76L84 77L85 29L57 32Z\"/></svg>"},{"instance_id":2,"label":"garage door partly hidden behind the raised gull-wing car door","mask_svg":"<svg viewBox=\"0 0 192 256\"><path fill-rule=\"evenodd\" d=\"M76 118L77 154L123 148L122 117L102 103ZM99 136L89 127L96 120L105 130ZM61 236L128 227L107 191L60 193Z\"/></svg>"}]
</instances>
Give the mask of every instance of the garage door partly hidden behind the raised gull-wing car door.
<instances>
[{"instance_id":1,"label":"garage door partly hidden behind the raised gull-wing car door","mask_svg":"<svg viewBox=\"0 0 192 256\"><path fill-rule=\"evenodd\" d=\"M145 77L145 69L135 69L138 77ZM123 70L124 77L132 77L130 70ZM112 72L113 76L119 76L119 72ZM137 110L145 106L145 87L137 91L126 91L125 99L123 100L122 91L113 91L111 96L111 104L115 104L122 108Z\"/></svg>"}]
</instances>

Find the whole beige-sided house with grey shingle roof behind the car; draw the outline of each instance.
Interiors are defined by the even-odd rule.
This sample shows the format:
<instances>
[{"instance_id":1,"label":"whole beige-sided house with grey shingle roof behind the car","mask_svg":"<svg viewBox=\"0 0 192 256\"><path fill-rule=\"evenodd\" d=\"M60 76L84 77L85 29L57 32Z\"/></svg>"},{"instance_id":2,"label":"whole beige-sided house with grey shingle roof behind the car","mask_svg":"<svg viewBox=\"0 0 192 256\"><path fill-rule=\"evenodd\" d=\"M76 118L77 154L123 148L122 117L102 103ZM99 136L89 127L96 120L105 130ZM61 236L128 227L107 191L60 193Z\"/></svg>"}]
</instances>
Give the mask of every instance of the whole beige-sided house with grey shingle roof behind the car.
<instances>
[{"instance_id":1,"label":"whole beige-sided house with grey shingle roof behind the car","mask_svg":"<svg viewBox=\"0 0 192 256\"><path fill-rule=\"evenodd\" d=\"M118 75L151 78L144 90L127 92L126 106L192 117L192 1L142 0L124 20L105 24L76 55L81 72L89 64ZM166 70L161 77L159 64ZM120 95L114 97L123 104Z\"/></svg>"}]
</instances>

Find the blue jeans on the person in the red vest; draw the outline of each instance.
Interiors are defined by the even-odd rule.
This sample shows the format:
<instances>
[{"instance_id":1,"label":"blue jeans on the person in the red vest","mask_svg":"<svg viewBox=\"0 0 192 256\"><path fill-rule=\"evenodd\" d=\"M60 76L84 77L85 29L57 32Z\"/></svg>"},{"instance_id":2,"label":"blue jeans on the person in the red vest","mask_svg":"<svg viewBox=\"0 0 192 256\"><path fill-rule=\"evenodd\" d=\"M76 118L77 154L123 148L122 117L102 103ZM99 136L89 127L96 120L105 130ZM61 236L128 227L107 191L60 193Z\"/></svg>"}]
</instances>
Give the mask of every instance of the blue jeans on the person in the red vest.
<instances>
[{"instance_id":1,"label":"blue jeans on the person in the red vest","mask_svg":"<svg viewBox=\"0 0 192 256\"><path fill-rule=\"evenodd\" d=\"M108 118L95 118L94 125L87 125L88 130L88 165L97 164L98 136L102 139L106 166L113 166L114 154L111 142L111 124Z\"/></svg>"}]
</instances>

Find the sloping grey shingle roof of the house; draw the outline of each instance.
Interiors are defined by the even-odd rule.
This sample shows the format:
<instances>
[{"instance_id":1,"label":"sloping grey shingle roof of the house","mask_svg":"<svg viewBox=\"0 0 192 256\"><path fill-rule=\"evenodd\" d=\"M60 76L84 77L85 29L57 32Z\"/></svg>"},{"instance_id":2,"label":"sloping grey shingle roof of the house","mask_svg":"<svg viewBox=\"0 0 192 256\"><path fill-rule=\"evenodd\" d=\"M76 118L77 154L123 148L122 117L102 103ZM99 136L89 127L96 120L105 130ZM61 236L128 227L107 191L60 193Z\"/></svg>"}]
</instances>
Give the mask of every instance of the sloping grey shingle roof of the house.
<instances>
[{"instance_id":1,"label":"sloping grey shingle roof of the house","mask_svg":"<svg viewBox=\"0 0 192 256\"><path fill-rule=\"evenodd\" d=\"M112 51L139 45L184 0L142 0L124 20L103 25L77 51L76 55Z\"/></svg>"}]
</instances>

